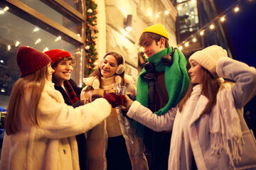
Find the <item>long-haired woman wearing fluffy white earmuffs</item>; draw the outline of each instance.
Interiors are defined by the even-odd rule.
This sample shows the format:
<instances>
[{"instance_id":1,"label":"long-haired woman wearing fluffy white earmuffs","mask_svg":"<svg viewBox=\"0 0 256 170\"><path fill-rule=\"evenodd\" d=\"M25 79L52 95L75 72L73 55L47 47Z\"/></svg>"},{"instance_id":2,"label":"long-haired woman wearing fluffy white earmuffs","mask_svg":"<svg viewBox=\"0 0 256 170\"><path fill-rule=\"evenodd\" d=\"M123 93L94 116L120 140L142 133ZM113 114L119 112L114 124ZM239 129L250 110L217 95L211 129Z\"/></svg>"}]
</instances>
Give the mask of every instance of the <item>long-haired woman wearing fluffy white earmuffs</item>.
<instances>
[{"instance_id":1,"label":"long-haired woman wearing fluffy white earmuffs","mask_svg":"<svg viewBox=\"0 0 256 170\"><path fill-rule=\"evenodd\" d=\"M93 89L110 89L113 84L126 86L127 94L136 96L134 80L124 74L124 57L119 52L107 52L99 68L84 83L80 98L87 101ZM89 170L149 169L144 143L135 135L132 121L119 108L112 108L107 119L87 132L87 166Z\"/></svg>"}]
</instances>

